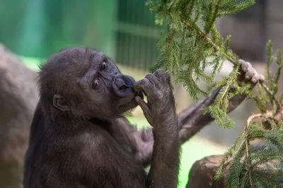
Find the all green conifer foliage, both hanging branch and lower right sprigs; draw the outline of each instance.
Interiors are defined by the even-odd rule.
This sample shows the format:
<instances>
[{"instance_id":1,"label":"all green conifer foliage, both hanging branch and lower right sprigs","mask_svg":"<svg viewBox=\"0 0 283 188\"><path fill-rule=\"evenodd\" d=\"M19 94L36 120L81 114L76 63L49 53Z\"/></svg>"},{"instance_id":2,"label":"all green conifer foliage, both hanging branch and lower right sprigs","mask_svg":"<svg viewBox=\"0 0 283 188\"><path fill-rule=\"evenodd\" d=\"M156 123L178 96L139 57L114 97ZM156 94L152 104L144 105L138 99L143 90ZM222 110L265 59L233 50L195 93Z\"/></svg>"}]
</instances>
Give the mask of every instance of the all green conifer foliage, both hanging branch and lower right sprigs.
<instances>
[{"instance_id":1,"label":"all green conifer foliage, both hanging branch and lower right sprigs","mask_svg":"<svg viewBox=\"0 0 283 188\"><path fill-rule=\"evenodd\" d=\"M156 24L166 23L158 42L161 51L158 62L151 71L163 68L171 72L177 81L183 83L192 98L207 91L198 83L202 80L211 87L221 86L221 91L209 112L223 127L233 126L227 116L229 99L245 94L253 100L260 114L249 117L246 128L233 146L224 154L216 178L223 175L224 166L231 158L226 177L226 187L282 187L283 178L283 92L278 92L278 83L283 61L281 52L273 54L272 43L267 43L267 74L265 82L256 86L253 93L251 83L238 80L240 63L229 48L230 36L225 40L215 28L217 18L231 15L255 4L253 0L156 0L146 5L156 13ZM234 64L233 72L221 81L214 81L225 59ZM277 65L272 75L270 67ZM204 69L212 67L211 74ZM233 90L231 89L233 88ZM279 95L279 97L277 97ZM257 119L257 121L255 121ZM262 147L255 147L251 141L265 141ZM240 144L239 144L240 143Z\"/></svg>"}]
</instances>

